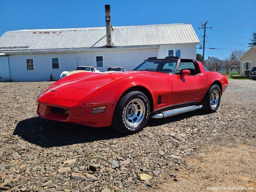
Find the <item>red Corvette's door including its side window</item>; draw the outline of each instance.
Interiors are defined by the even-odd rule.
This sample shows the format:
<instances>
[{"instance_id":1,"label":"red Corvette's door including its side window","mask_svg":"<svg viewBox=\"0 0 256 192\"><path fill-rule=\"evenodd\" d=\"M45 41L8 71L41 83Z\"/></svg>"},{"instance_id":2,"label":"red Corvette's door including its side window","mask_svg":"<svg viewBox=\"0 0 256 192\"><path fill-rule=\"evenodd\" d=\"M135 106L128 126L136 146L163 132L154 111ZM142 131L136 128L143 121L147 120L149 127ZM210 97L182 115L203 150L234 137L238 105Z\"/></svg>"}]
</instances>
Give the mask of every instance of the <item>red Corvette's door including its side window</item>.
<instances>
[{"instance_id":1,"label":"red Corvette's door including its side window","mask_svg":"<svg viewBox=\"0 0 256 192\"><path fill-rule=\"evenodd\" d=\"M182 75L182 70L190 70L190 75ZM201 102L207 86L207 74L201 72L194 60L180 60L172 78L172 104Z\"/></svg>"}]
</instances>

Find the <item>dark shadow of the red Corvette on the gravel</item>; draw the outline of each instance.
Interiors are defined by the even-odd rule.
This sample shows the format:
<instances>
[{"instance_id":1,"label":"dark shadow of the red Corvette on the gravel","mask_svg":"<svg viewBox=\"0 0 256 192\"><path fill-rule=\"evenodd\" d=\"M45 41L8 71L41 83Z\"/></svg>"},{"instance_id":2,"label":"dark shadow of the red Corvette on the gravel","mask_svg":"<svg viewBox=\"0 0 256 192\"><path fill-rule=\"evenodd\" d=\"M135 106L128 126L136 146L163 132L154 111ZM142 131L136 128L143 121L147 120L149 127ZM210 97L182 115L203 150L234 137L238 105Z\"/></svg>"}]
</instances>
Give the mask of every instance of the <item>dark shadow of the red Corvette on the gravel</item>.
<instances>
[{"instance_id":1,"label":"dark shadow of the red Corvette on the gravel","mask_svg":"<svg viewBox=\"0 0 256 192\"><path fill-rule=\"evenodd\" d=\"M186 114L176 115L171 118L150 118L146 126L159 126L202 114L202 112L189 112ZM125 134L116 132L112 127L94 128L78 124L46 120L40 117L29 118L18 122L13 134L43 148L66 146L70 144L86 143L126 136Z\"/></svg>"}]
</instances>

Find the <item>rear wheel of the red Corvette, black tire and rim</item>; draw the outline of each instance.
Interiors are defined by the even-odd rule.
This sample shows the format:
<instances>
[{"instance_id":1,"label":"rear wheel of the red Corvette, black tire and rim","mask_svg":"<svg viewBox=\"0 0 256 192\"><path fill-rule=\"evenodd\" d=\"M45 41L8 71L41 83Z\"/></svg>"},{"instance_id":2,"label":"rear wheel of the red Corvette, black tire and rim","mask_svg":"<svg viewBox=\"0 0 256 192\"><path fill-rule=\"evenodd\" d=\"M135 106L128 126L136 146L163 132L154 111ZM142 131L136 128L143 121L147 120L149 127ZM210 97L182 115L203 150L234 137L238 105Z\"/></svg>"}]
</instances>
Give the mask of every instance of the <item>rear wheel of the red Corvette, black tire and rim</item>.
<instances>
[{"instance_id":1,"label":"rear wheel of the red Corvette, black tire and rim","mask_svg":"<svg viewBox=\"0 0 256 192\"><path fill-rule=\"evenodd\" d=\"M216 98L218 92L218 102L211 102L211 96L213 96L213 98ZM212 95L213 94L213 95ZM214 95L216 94L216 95ZM218 107L220 106L220 99L221 99L221 90L220 90L220 86L218 85L212 85L208 92L206 93L206 95L204 96L204 111L208 112L208 113L213 113L215 112ZM213 99L213 101L216 101Z\"/></svg>"}]
</instances>

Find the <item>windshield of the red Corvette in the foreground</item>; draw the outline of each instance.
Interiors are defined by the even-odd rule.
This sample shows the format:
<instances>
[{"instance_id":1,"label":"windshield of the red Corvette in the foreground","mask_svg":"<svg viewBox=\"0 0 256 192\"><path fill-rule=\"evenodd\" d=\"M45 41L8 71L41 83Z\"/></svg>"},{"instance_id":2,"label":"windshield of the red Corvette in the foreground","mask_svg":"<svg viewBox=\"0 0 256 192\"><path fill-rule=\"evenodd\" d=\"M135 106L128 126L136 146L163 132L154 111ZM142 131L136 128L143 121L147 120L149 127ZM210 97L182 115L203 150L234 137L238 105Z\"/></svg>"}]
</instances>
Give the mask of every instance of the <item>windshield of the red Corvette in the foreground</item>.
<instances>
[{"instance_id":1,"label":"windshield of the red Corvette in the foreground","mask_svg":"<svg viewBox=\"0 0 256 192\"><path fill-rule=\"evenodd\" d=\"M173 59L154 59L145 60L138 66L136 66L133 71L155 71L164 73L173 73L174 69L178 63L178 60Z\"/></svg>"}]
</instances>

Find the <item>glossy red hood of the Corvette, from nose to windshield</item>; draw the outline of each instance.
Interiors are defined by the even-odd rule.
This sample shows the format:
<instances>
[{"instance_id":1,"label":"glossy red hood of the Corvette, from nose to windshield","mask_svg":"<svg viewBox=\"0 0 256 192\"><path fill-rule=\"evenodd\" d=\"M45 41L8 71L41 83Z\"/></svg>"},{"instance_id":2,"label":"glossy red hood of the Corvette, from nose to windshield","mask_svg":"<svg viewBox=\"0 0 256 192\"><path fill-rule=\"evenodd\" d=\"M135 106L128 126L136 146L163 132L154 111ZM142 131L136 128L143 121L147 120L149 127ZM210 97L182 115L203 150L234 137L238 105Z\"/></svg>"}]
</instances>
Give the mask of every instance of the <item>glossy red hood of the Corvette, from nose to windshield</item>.
<instances>
[{"instance_id":1,"label":"glossy red hood of the Corvette, from nose to windshield","mask_svg":"<svg viewBox=\"0 0 256 192\"><path fill-rule=\"evenodd\" d=\"M49 86L38 96L38 101L43 102L43 98L47 97L47 95L79 101L85 98L91 92L94 92L95 90L100 89L101 87L106 86L107 84L119 82L125 79L132 80L132 78L138 76L157 75L170 76L170 74L167 73L150 71L129 71L106 74L80 72L67 76L66 78L63 78Z\"/></svg>"}]
</instances>

